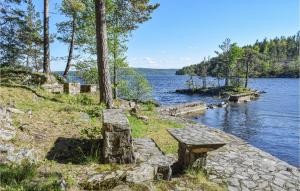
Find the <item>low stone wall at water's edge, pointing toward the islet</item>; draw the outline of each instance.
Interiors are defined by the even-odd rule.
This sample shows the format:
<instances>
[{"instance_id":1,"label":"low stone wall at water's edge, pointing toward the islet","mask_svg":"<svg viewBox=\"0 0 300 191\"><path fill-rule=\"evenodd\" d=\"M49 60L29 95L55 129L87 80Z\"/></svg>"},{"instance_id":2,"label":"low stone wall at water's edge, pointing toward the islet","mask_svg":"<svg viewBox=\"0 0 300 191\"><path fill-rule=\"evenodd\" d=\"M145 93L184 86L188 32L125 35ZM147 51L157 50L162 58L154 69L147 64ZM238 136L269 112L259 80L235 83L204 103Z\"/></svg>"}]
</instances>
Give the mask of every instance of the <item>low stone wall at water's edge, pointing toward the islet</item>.
<instances>
[{"instance_id":1,"label":"low stone wall at water's edge, pointing toward the islet","mask_svg":"<svg viewBox=\"0 0 300 191\"><path fill-rule=\"evenodd\" d=\"M200 114L206 111L206 104L203 102L184 103L174 106L163 106L158 109L162 114L180 116L188 114Z\"/></svg>"}]
</instances>

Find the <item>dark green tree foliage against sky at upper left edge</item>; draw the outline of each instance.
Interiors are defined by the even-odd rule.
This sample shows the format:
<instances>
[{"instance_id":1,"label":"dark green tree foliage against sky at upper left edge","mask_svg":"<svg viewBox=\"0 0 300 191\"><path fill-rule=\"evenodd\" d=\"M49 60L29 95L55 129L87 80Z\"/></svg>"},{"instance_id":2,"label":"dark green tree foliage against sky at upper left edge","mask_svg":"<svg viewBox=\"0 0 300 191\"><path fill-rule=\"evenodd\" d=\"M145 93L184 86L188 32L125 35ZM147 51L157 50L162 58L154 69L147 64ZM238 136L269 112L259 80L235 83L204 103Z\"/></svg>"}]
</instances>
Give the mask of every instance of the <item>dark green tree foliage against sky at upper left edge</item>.
<instances>
[{"instance_id":1,"label":"dark green tree foliage against sky at upper left edge","mask_svg":"<svg viewBox=\"0 0 300 191\"><path fill-rule=\"evenodd\" d=\"M23 5L21 2L0 3L0 65L26 64L39 70L42 53L39 13L31 0Z\"/></svg>"}]
</instances>

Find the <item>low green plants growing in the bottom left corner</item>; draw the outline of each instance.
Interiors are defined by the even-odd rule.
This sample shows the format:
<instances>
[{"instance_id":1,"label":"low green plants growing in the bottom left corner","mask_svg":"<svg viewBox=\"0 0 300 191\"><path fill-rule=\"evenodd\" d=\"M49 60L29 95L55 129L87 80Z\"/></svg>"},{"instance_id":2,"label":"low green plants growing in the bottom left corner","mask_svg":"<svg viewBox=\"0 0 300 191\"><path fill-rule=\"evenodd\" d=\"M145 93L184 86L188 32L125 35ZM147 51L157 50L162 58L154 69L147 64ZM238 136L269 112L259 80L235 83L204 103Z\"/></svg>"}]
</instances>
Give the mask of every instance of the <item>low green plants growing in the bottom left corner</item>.
<instances>
[{"instance_id":1,"label":"low green plants growing in the bottom left corner","mask_svg":"<svg viewBox=\"0 0 300 191\"><path fill-rule=\"evenodd\" d=\"M39 180L37 166L27 161L21 165L0 165L0 186L7 191L59 191L60 176L44 174L46 180Z\"/></svg>"}]
</instances>

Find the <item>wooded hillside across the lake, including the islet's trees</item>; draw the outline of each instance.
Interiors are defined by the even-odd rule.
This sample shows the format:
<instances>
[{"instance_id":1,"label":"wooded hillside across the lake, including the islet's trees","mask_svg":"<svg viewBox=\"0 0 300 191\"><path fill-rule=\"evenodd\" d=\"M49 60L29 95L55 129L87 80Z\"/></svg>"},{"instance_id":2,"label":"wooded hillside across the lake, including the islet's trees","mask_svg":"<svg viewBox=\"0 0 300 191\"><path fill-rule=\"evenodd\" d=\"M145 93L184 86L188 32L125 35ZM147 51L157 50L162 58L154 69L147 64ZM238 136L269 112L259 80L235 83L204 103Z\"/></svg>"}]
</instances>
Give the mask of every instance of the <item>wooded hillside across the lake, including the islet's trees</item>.
<instances>
[{"instance_id":1,"label":"wooded hillside across the lake, including the islet's trees","mask_svg":"<svg viewBox=\"0 0 300 191\"><path fill-rule=\"evenodd\" d=\"M239 47L226 39L215 51L216 57L206 58L199 64L183 67L177 75L190 75L202 79L206 87L206 77L225 79L225 86L248 85L249 77L290 77L299 78L300 32L289 37L264 39L253 45Z\"/></svg>"}]
</instances>

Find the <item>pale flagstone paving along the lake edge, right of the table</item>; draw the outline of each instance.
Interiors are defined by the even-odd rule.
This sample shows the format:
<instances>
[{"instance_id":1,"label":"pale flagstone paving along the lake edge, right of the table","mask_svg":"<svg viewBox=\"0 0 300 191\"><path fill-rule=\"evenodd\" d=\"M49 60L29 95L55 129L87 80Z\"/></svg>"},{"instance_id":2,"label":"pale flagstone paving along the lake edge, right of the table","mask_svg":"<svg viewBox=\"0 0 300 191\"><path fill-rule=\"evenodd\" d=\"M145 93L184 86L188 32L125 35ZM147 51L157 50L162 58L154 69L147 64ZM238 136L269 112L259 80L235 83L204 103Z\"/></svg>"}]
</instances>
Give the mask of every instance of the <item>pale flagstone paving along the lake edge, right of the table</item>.
<instances>
[{"instance_id":1,"label":"pale flagstone paving along the lake edge, right of the table","mask_svg":"<svg viewBox=\"0 0 300 191\"><path fill-rule=\"evenodd\" d=\"M208 128L182 118L169 116L163 118L183 122L187 127L202 127L227 142L225 146L208 152L206 169L210 180L227 183L230 191L300 190L298 168L221 130Z\"/></svg>"}]
</instances>

